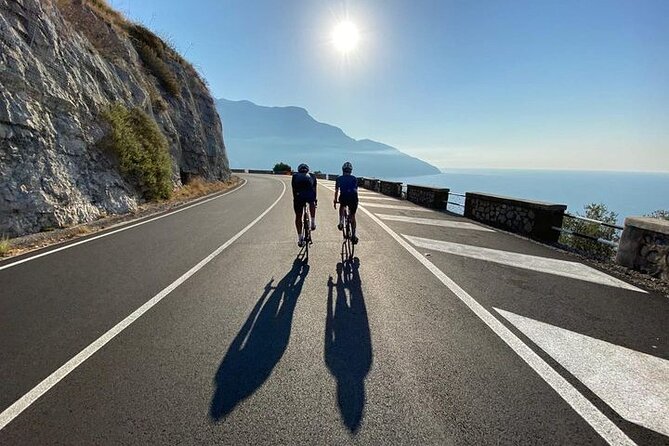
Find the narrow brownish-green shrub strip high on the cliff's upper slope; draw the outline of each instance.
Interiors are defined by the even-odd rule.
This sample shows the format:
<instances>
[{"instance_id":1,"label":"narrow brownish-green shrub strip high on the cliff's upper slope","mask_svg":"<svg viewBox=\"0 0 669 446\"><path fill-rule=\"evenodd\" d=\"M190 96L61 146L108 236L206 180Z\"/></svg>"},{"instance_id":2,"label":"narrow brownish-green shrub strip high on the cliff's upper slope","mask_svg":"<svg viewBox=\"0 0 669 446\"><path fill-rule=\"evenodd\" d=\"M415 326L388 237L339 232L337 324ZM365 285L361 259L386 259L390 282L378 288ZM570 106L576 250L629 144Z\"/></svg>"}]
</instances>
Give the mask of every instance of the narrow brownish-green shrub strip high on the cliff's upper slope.
<instances>
[{"instance_id":1,"label":"narrow brownish-green shrub strip high on the cliff's upper slope","mask_svg":"<svg viewBox=\"0 0 669 446\"><path fill-rule=\"evenodd\" d=\"M127 29L144 66L160 81L165 91L172 96L179 96L179 82L164 60L167 57L165 43L142 25L128 25Z\"/></svg>"}]
</instances>

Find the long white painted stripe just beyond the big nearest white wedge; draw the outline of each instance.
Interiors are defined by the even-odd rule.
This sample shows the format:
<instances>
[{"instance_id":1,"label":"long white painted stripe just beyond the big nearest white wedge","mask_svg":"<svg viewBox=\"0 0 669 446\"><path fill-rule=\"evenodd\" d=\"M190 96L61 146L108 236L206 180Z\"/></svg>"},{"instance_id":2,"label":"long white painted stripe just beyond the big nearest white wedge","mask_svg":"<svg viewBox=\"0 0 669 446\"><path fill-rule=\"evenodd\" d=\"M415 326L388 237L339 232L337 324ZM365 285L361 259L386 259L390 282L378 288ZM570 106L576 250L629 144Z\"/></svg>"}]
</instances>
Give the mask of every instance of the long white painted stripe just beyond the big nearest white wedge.
<instances>
[{"instance_id":1,"label":"long white painted stripe just beyond the big nearest white wedge","mask_svg":"<svg viewBox=\"0 0 669 446\"><path fill-rule=\"evenodd\" d=\"M500 251L497 249L481 248L478 246L462 245L460 243L431 240L404 234L402 234L402 236L420 248L469 257L472 259L485 260L487 262L509 265L531 271L554 274L556 276L569 277L571 279L584 280L601 285L624 288L639 293L646 293L646 291L642 289L639 289L633 285L623 282L622 280L618 280L615 277L611 277L608 274L604 274L601 271L590 268L589 266L578 262L569 262L566 260L519 254L516 252Z\"/></svg>"}]
</instances>

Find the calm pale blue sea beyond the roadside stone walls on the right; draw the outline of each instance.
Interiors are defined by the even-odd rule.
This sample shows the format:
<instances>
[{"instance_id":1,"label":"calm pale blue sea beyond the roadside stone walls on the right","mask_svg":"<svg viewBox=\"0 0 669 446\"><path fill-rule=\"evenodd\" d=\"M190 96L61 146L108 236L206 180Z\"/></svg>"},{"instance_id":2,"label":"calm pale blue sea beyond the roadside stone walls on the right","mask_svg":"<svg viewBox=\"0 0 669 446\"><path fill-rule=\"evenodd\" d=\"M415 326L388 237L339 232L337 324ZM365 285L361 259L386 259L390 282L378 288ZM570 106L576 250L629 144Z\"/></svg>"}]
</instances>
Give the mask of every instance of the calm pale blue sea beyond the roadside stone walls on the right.
<instances>
[{"instance_id":1,"label":"calm pale blue sea beyond the roadside stone walls on the right","mask_svg":"<svg viewBox=\"0 0 669 446\"><path fill-rule=\"evenodd\" d=\"M610 172L576 170L444 169L437 175L388 178L406 184L446 187L451 192L486 192L514 198L566 204L567 211L584 215L590 203L603 203L618 215L643 216L669 210L669 172ZM464 199L452 197L464 203ZM462 213L462 208L449 205Z\"/></svg>"}]
</instances>

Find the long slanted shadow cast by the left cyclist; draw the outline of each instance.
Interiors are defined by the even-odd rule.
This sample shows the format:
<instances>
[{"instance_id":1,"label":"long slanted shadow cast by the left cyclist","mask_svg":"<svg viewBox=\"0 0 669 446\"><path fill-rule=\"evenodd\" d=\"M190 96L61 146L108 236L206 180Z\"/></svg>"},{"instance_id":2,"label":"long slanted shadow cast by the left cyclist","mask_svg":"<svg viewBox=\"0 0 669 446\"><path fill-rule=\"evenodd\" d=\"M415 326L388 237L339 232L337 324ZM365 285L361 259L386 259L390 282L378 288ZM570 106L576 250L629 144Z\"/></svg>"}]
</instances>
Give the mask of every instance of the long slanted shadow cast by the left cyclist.
<instances>
[{"instance_id":1,"label":"long slanted shadow cast by the left cyclist","mask_svg":"<svg viewBox=\"0 0 669 446\"><path fill-rule=\"evenodd\" d=\"M216 390L209 416L220 420L252 395L269 377L283 356L302 285L309 273L304 257L276 284L270 280L232 341L215 377Z\"/></svg>"}]
</instances>

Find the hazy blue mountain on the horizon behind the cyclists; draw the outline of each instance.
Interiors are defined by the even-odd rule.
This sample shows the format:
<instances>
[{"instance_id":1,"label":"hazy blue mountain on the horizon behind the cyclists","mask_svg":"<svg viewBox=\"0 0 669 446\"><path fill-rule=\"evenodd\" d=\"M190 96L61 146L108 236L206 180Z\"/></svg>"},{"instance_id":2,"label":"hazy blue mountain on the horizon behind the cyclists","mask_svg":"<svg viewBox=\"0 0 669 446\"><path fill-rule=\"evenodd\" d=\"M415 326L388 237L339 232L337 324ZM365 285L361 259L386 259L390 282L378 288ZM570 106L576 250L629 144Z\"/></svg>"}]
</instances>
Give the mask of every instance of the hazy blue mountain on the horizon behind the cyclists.
<instances>
[{"instance_id":1,"label":"hazy blue mountain on the horizon behind the cyclists","mask_svg":"<svg viewBox=\"0 0 669 446\"><path fill-rule=\"evenodd\" d=\"M340 128L316 121L299 107L263 107L249 101L216 100L230 166L271 169L285 162L296 168L338 173L344 161L354 174L369 177L430 175L439 169L394 147L355 140Z\"/></svg>"}]
</instances>

